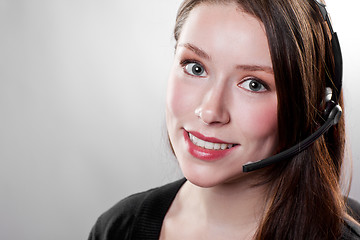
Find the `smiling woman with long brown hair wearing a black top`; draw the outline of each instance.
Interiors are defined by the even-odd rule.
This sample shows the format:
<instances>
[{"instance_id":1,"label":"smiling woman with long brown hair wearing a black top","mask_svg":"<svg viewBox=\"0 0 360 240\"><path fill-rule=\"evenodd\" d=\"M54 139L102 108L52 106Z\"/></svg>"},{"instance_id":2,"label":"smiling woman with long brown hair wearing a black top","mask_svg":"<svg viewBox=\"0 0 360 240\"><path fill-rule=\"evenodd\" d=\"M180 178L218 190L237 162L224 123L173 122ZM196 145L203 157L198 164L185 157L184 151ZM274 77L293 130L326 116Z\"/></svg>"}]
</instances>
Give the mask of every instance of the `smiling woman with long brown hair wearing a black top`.
<instances>
[{"instance_id":1,"label":"smiling woman with long brown hair wearing a black top","mask_svg":"<svg viewBox=\"0 0 360 240\"><path fill-rule=\"evenodd\" d=\"M315 1L185 0L166 108L185 179L122 200L89 239L360 239L339 187L343 118L243 171L319 129L327 87L342 106L328 28Z\"/></svg>"}]
</instances>

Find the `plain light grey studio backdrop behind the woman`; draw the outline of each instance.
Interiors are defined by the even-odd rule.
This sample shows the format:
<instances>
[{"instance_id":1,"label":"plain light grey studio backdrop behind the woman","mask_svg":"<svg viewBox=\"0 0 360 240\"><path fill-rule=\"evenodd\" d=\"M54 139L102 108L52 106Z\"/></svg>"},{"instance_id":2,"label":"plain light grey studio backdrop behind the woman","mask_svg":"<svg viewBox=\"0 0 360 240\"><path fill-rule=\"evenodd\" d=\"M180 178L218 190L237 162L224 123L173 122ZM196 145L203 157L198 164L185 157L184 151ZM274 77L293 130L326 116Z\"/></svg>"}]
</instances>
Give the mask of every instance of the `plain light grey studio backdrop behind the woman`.
<instances>
[{"instance_id":1,"label":"plain light grey studio backdrop behind the woman","mask_svg":"<svg viewBox=\"0 0 360 240\"><path fill-rule=\"evenodd\" d=\"M121 198L181 177L165 90L180 0L0 0L0 239L86 239ZM357 0L328 0L360 200Z\"/></svg>"}]
</instances>

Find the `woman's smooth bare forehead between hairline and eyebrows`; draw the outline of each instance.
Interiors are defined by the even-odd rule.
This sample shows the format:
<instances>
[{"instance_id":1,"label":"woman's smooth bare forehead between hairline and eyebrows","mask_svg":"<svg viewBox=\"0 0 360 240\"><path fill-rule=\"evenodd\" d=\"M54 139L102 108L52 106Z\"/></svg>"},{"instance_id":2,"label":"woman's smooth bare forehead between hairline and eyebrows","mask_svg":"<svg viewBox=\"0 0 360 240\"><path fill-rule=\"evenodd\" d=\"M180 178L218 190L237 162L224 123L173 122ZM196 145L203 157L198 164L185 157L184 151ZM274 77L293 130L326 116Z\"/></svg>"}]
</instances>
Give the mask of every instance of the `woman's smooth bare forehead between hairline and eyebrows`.
<instances>
[{"instance_id":1,"label":"woman's smooth bare forehead between hairline and eyebrows","mask_svg":"<svg viewBox=\"0 0 360 240\"><path fill-rule=\"evenodd\" d=\"M234 64L244 64L238 61L246 60L246 64L272 67L262 22L239 11L236 4L195 7L182 28L178 46L195 46L213 60Z\"/></svg>"}]
</instances>

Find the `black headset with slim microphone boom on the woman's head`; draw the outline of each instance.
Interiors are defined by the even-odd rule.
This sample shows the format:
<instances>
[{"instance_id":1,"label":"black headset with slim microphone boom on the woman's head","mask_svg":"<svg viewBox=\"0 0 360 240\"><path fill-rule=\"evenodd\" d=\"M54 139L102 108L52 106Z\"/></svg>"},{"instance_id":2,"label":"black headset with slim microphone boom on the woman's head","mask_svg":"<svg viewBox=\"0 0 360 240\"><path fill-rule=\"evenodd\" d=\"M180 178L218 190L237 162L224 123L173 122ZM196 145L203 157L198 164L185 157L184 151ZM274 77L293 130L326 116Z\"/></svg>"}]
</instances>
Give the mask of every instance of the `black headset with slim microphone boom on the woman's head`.
<instances>
[{"instance_id":1,"label":"black headset with slim microphone boom on the woman's head","mask_svg":"<svg viewBox=\"0 0 360 240\"><path fill-rule=\"evenodd\" d=\"M331 34L331 45L334 56L334 76L332 80L327 78L327 86L333 86L333 88L327 87L329 91L329 95L331 94L331 98L327 99L326 107L324 110L324 119L325 122L323 125L318 128L313 134L304 140L300 141L298 144L292 146L291 148L284 150L278 154L275 154L271 157L265 158L263 160L257 162L249 162L243 165L243 172L252 172L274 163L278 163L283 160L290 160L290 158L299 154L306 148L308 148L311 144L313 144L321 135L323 135L326 131L330 129L333 125L336 125L339 122L341 117L342 109L339 105L340 92L342 87L342 72L343 72L343 62L339 40L336 32L334 32L331 21L326 10L326 5L321 3L320 0L313 0L318 6L321 15L329 27Z\"/></svg>"}]
</instances>

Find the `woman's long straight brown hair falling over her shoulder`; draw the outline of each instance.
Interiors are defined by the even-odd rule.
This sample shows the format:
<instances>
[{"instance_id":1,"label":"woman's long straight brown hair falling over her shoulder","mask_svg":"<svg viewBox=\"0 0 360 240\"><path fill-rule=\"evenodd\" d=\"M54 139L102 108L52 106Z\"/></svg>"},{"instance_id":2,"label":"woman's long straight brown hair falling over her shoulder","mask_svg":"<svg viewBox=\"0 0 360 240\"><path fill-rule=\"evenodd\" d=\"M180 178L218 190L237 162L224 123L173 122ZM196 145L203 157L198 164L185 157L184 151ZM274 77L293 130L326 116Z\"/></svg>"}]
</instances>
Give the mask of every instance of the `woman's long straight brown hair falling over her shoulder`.
<instances>
[{"instance_id":1,"label":"woman's long straight brown hair falling over her shoulder","mask_svg":"<svg viewBox=\"0 0 360 240\"><path fill-rule=\"evenodd\" d=\"M309 136L323 123L326 76L333 75L327 25L314 1L185 0L174 37L199 4L237 3L265 27L278 97L279 149ZM342 94L340 105L343 107ZM265 169L267 210L256 239L338 239L347 217L339 182L344 159L344 117L293 159Z\"/></svg>"}]
</instances>

